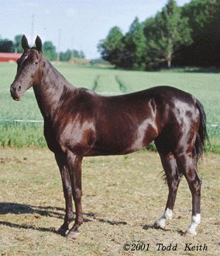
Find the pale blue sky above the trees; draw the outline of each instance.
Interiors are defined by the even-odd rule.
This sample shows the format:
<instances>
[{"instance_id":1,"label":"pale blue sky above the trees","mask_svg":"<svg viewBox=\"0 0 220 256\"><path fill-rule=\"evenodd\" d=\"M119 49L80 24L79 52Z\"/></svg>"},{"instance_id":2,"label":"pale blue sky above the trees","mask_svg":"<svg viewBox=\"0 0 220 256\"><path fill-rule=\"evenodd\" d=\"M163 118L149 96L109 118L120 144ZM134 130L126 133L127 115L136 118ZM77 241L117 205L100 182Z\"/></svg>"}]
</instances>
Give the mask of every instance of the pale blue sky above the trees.
<instances>
[{"instance_id":1,"label":"pale blue sky above the trees","mask_svg":"<svg viewBox=\"0 0 220 256\"><path fill-rule=\"evenodd\" d=\"M113 26L119 26L125 34L136 16L143 22L160 12L167 1L0 0L0 37L14 40L16 35L25 34L33 45L39 35L43 42L52 41L56 51L74 49L84 51L88 59L100 58L99 40L105 39ZM191 1L176 2L182 6Z\"/></svg>"}]
</instances>

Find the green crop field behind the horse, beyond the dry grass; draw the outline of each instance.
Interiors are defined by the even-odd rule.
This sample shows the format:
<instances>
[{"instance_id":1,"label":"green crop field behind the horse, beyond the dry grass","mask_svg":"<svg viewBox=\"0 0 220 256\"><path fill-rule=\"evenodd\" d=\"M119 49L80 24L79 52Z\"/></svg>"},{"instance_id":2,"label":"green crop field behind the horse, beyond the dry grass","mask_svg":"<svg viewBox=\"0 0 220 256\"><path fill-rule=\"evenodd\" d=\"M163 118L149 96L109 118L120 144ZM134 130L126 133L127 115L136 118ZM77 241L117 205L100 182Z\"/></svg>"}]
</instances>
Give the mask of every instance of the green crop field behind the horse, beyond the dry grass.
<instances>
[{"instance_id":1,"label":"green crop field behind the horse, beyond the dry grass","mask_svg":"<svg viewBox=\"0 0 220 256\"><path fill-rule=\"evenodd\" d=\"M174 86L193 94L205 107L212 151L220 153L220 75L198 72L132 72L111 68L54 64L74 86L100 93L132 93L152 86ZM33 92L20 102L12 100L9 87L15 78L15 63L0 63L0 119L43 121ZM33 89L30 89L33 90ZM43 123L0 121L1 146L46 146Z\"/></svg>"}]
</instances>

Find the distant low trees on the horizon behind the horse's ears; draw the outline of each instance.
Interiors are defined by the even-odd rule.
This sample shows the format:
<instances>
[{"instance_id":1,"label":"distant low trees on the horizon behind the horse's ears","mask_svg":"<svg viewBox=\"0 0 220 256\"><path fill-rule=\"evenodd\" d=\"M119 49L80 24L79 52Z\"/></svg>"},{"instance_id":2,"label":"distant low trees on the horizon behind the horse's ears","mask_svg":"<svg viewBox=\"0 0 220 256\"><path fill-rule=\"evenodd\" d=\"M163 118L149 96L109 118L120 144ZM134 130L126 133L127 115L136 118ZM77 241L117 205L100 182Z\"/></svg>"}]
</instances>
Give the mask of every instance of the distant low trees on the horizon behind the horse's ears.
<instances>
[{"instance_id":1,"label":"distant low trees on the horizon behind the horse's ears","mask_svg":"<svg viewBox=\"0 0 220 256\"><path fill-rule=\"evenodd\" d=\"M14 53L22 53L22 35L15 36L14 41L9 39L2 39L0 37L0 52L14 52ZM56 47L53 45L51 41L45 41L42 46L43 54L46 59L49 61L57 60L57 51ZM72 58L85 58L83 51L77 50L67 50L65 52L60 52L60 61L70 61Z\"/></svg>"}]
</instances>

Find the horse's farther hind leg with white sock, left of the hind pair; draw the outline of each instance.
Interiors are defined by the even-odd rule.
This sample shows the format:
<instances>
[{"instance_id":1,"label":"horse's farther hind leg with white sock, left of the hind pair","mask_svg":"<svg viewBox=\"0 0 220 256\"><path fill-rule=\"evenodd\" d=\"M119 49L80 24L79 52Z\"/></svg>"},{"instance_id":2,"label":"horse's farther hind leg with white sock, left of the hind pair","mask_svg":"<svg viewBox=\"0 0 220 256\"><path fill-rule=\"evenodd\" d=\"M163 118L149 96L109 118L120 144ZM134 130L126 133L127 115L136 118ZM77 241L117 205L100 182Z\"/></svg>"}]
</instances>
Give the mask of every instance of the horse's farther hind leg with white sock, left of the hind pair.
<instances>
[{"instance_id":1,"label":"horse's farther hind leg with white sock, left of the hind pair","mask_svg":"<svg viewBox=\"0 0 220 256\"><path fill-rule=\"evenodd\" d=\"M157 147L157 149L159 149ZM158 150L160 153L160 149ZM160 159L163 165L163 170L166 174L166 180L169 187L169 195L167 198L167 205L163 216L160 219L156 220L154 226L165 228L166 220L172 219L172 212L174 209L174 203L177 196L177 188L180 183L180 174L177 169L177 162L172 153L168 153L164 156L163 153L160 153Z\"/></svg>"}]
</instances>

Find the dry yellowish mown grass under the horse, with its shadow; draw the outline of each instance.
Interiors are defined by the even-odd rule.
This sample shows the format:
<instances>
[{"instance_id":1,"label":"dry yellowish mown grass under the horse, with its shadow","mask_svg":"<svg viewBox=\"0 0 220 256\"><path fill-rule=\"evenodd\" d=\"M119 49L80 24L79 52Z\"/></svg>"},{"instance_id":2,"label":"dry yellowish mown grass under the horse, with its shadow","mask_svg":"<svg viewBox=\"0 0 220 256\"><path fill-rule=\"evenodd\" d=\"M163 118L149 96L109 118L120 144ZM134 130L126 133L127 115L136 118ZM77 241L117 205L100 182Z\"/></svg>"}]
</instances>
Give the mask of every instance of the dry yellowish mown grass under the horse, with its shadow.
<instances>
[{"instance_id":1,"label":"dry yellowish mown grass under the horse, with its shadow","mask_svg":"<svg viewBox=\"0 0 220 256\"><path fill-rule=\"evenodd\" d=\"M64 221L64 195L57 163L46 148L1 150L0 253L2 255L218 255L220 156L207 154L198 236L183 237L191 222L191 193L183 178L167 230L151 226L163 214L167 184L156 153L84 158L84 223L77 240L56 234ZM156 244L177 251L156 251ZM208 251L184 251L186 243ZM150 244L149 251L124 251L124 244Z\"/></svg>"}]
</instances>

